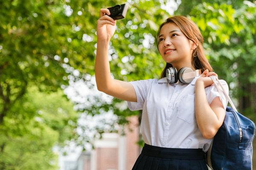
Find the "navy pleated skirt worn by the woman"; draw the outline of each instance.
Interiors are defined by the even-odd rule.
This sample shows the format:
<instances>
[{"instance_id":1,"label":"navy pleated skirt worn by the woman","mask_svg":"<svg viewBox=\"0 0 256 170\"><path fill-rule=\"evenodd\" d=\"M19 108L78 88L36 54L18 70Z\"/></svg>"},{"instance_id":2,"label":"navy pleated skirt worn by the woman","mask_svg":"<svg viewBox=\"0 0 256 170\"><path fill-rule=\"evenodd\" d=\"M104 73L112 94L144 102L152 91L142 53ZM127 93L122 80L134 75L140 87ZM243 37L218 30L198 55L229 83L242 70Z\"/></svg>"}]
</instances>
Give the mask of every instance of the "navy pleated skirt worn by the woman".
<instances>
[{"instance_id":1,"label":"navy pleated skirt worn by the woman","mask_svg":"<svg viewBox=\"0 0 256 170\"><path fill-rule=\"evenodd\" d=\"M132 170L208 170L202 149L179 149L145 144Z\"/></svg>"}]
</instances>

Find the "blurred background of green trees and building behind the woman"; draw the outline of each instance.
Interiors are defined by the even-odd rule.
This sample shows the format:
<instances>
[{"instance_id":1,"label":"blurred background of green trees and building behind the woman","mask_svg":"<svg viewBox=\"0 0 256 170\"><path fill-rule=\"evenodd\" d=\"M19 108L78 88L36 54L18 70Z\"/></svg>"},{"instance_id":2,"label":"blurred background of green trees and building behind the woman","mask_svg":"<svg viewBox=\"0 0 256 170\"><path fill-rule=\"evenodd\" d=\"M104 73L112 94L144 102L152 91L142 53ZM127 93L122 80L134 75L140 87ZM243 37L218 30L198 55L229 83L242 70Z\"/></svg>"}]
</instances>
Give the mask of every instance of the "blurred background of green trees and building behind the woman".
<instances>
[{"instance_id":1,"label":"blurred background of green trees and building behind the woman","mask_svg":"<svg viewBox=\"0 0 256 170\"><path fill-rule=\"evenodd\" d=\"M256 121L255 0L0 0L0 170L131 169L141 111L97 91L94 77L99 10L123 3L109 46L115 79L159 79L158 26L183 15L239 112Z\"/></svg>"}]
</instances>

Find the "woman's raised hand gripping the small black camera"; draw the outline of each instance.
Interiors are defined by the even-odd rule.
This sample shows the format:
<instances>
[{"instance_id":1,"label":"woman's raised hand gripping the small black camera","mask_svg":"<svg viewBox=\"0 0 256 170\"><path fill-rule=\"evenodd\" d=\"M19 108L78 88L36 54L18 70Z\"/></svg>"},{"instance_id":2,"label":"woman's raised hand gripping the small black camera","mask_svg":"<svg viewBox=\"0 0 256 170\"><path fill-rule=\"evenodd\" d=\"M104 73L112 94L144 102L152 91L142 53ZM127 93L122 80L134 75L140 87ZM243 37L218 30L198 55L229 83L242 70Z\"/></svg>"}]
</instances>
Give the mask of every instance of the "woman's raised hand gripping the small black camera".
<instances>
[{"instance_id":1,"label":"woman's raised hand gripping the small black camera","mask_svg":"<svg viewBox=\"0 0 256 170\"><path fill-rule=\"evenodd\" d=\"M110 15L110 11L105 8L100 9L100 18L97 21L98 40L110 40L116 30L116 20L105 14Z\"/></svg>"}]
</instances>

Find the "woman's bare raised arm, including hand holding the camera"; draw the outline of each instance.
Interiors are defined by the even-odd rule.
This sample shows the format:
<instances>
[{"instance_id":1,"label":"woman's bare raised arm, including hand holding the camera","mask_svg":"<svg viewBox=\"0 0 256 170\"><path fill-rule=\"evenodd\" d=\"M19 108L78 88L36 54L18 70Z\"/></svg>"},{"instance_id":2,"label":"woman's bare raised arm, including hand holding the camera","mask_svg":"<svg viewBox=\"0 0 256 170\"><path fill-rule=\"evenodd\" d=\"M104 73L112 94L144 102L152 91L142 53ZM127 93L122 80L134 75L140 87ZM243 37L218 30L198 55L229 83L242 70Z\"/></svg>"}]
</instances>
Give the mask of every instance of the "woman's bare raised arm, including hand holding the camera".
<instances>
[{"instance_id":1,"label":"woman's bare raised arm, including hand holding the camera","mask_svg":"<svg viewBox=\"0 0 256 170\"><path fill-rule=\"evenodd\" d=\"M99 91L113 97L137 102L134 87L129 82L112 79L108 61L108 44L116 29L116 21L106 14L108 9L100 10L100 18L97 21L97 52L95 60L95 77Z\"/></svg>"}]
</instances>

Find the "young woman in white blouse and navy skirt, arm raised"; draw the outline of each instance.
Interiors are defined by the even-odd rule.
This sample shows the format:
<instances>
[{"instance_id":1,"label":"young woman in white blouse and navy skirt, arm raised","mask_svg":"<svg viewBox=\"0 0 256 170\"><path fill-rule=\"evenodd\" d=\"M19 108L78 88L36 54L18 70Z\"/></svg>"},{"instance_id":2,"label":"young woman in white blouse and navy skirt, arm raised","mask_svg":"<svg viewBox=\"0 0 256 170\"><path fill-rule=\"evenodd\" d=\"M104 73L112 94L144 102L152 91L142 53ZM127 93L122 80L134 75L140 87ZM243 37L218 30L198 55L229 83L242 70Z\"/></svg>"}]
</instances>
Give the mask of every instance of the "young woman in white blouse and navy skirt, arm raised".
<instances>
[{"instance_id":1,"label":"young woman in white blouse and navy skirt, arm raised","mask_svg":"<svg viewBox=\"0 0 256 170\"><path fill-rule=\"evenodd\" d=\"M227 99L212 85L209 76L217 74L204 55L198 27L186 17L168 18L157 33L157 47L166 62L161 79L123 82L111 78L108 44L116 21L105 13L110 14L100 10L97 22L96 83L99 91L128 101L130 110L143 110L145 145L133 170L207 170L205 152L224 121ZM177 78L184 67L203 73L184 83ZM168 68L177 70L177 83L167 82ZM221 84L228 92L227 83Z\"/></svg>"}]
</instances>

